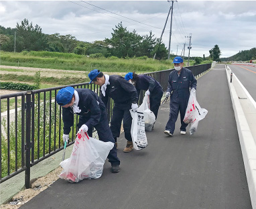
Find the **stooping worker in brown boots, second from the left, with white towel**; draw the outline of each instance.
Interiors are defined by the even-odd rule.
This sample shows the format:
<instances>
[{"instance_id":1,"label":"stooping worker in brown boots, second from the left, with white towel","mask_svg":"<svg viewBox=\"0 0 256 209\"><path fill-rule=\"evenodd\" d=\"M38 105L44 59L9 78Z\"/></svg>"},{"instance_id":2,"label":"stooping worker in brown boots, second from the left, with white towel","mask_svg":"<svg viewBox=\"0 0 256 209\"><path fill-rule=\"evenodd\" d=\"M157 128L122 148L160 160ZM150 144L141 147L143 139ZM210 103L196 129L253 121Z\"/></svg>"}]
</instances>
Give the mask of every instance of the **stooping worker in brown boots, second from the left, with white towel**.
<instances>
[{"instance_id":1,"label":"stooping worker in brown boots, second from the left, with white towel","mask_svg":"<svg viewBox=\"0 0 256 209\"><path fill-rule=\"evenodd\" d=\"M110 98L114 100L113 115L111 118L111 131L115 141L120 136L121 123L123 120L123 129L125 132L125 139L127 139L127 145L124 152L130 152L133 150L133 141L131 139L131 113L137 111L137 90L130 84L125 78L118 75L103 74L100 70L94 69L88 74L90 83L94 82L101 86L101 98L107 107L107 102Z\"/></svg>"}]
</instances>

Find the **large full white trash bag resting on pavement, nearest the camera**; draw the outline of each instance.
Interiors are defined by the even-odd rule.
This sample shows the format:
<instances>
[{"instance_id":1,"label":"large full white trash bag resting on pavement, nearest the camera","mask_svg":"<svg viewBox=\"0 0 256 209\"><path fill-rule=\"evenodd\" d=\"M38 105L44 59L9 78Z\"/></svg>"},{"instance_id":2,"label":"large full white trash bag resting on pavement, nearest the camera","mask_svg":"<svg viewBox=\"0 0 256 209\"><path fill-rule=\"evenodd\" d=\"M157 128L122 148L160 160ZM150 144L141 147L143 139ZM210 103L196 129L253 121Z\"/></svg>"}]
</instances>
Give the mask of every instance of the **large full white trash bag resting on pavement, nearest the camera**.
<instances>
[{"instance_id":1,"label":"large full white trash bag resting on pavement, nearest the camera","mask_svg":"<svg viewBox=\"0 0 256 209\"><path fill-rule=\"evenodd\" d=\"M111 141L100 141L79 131L70 158L60 163L63 168L60 178L72 183L84 178L100 178L107 155L113 147Z\"/></svg>"}]
</instances>

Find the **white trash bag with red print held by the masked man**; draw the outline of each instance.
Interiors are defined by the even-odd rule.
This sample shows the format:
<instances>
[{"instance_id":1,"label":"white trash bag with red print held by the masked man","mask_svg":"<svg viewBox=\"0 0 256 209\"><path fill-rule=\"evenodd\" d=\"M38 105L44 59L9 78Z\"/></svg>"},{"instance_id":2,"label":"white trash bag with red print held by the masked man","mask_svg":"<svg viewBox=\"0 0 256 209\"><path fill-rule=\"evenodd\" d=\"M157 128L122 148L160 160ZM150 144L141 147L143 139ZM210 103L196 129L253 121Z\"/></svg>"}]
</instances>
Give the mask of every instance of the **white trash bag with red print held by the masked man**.
<instances>
[{"instance_id":1,"label":"white trash bag with red print held by the masked man","mask_svg":"<svg viewBox=\"0 0 256 209\"><path fill-rule=\"evenodd\" d=\"M190 123L190 135L196 132L198 122L204 119L208 111L202 109L196 100L196 90L192 88L190 98L188 99L188 106L184 116L184 123Z\"/></svg>"}]
</instances>

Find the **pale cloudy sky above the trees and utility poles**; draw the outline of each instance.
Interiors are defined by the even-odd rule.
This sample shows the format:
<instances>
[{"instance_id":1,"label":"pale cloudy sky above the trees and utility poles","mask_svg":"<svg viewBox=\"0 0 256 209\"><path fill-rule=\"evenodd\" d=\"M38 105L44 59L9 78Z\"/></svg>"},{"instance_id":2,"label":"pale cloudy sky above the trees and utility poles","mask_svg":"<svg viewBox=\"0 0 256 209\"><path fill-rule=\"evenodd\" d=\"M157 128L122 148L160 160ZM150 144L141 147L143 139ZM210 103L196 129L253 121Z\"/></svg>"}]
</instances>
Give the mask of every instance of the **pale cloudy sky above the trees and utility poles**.
<instances>
[{"instance_id":1,"label":"pale cloudy sky above the trees and utility poles","mask_svg":"<svg viewBox=\"0 0 256 209\"><path fill-rule=\"evenodd\" d=\"M16 27L26 18L43 33L70 34L94 42L111 38L122 22L140 36L160 38L172 1L0 1L0 25ZM172 11L171 11L172 12ZM162 36L169 46L171 13ZM256 47L256 1L174 1L170 50L209 56L217 44L220 58ZM182 53L183 54L183 53Z\"/></svg>"}]
</instances>

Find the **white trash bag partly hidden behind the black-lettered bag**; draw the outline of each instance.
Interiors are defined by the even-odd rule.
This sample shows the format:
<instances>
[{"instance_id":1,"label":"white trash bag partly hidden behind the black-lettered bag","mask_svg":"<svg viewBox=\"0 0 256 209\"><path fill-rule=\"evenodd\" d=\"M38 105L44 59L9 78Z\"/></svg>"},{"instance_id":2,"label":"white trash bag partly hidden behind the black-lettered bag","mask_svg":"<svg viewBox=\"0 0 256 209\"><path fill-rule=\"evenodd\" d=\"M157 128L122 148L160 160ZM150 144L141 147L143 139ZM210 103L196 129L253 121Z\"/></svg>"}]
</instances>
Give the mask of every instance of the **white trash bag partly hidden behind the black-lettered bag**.
<instances>
[{"instance_id":1,"label":"white trash bag partly hidden behind the black-lettered bag","mask_svg":"<svg viewBox=\"0 0 256 209\"><path fill-rule=\"evenodd\" d=\"M138 112L144 113L145 131L152 131L153 124L155 123L155 115L149 109L149 95L145 95L142 104L138 108Z\"/></svg>"}]
</instances>

